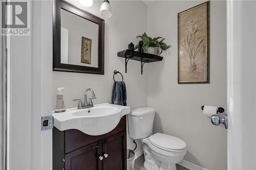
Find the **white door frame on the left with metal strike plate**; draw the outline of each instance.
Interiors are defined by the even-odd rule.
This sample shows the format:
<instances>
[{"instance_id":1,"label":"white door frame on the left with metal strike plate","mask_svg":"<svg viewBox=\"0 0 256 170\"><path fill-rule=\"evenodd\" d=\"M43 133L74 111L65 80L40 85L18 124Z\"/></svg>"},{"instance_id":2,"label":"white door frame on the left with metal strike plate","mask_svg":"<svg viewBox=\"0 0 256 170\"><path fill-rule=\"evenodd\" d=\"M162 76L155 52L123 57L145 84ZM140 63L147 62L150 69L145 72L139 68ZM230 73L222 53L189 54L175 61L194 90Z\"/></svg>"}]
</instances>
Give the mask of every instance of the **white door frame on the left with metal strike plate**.
<instances>
[{"instance_id":1,"label":"white door frame on the left with metal strike plate","mask_svg":"<svg viewBox=\"0 0 256 170\"><path fill-rule=\"evenodd\" d=\"M52 169L52 1L30 1L30 36L10 36L10 153L8 169Z\"/></svg>"}]
</instances>

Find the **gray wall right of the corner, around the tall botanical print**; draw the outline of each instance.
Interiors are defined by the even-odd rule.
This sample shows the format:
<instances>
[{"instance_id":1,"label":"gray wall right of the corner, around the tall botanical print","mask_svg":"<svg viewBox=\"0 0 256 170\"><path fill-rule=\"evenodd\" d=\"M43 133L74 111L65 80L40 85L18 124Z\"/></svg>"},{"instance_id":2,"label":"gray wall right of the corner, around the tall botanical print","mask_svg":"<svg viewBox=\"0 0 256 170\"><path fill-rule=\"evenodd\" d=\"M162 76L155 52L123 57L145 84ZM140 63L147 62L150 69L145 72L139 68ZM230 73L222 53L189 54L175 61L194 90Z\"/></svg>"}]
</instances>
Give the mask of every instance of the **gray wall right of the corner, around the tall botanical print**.
<instances>
[{"instance_id":1,"label":"gray wall right of the corner, around the tall botanical print","mask_svg":"<svg viewBox=\"0 0 256 170\"><path fill-rule=\"evenodd\" d=\"M177 13L202 1L159 1L148 6L147 33L172 47L162 62L146 65L147 105L156 108L154 131L187 143L184 159L207 169L227 169L226 130L202 115L202 105L226 109L226 2L210 2L210 84L177 83Z\"/></svg>"}]
</instances>

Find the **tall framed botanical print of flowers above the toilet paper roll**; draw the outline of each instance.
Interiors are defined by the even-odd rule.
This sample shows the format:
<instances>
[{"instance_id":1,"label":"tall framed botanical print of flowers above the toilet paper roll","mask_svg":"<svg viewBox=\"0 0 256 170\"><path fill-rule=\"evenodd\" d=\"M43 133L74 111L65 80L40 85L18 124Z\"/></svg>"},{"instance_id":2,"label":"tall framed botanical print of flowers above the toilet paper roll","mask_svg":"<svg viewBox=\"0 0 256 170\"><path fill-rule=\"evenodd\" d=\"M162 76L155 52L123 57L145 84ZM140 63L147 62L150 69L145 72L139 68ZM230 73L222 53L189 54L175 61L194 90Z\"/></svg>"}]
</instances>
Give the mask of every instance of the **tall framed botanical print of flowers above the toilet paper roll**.
<instances>
[{"instance_id":1,"label":"tall framed botanical print of flowers above the toilet paper roll","mask_svg":"<svg viewBox=\"0 0 256 170\"><path fill-rule=\"evenodd\" d=\"M209 6L209 1L207 1L178 13L178 84L209 84ZM205 13L201 12L197 15L200 10ZM186 18L184 14L188 15L189 12L193 14L189 16L200 19L196 21L187 19L188 17ZM203 18L202 22L200 22L201 18ZM188 38L187 32L189 31L191 31L190 35L195 34L194 38L192 36ZM199 38L196 37L198 32L201 32ZM187 35L187 39L181 39L182 36L185 37L184 35ZM194 46L191 46L191 41L195 42ZM200 58L197 57L198 53Z\"/></svg>"}]
</instances>

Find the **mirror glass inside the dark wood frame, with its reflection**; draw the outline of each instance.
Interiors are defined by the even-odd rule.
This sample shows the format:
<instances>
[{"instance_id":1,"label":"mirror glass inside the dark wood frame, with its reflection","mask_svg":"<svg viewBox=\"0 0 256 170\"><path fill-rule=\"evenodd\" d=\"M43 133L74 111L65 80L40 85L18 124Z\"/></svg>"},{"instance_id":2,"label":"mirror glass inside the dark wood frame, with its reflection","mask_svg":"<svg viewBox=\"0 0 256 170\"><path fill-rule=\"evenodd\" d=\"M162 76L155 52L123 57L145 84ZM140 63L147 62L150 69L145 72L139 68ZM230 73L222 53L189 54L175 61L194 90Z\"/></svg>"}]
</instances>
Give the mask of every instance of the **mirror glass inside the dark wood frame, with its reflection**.
<instances>
[{"instance_id":1,"label":"mirror glass inside the dark wood frame, with its reflection","mask_svg":"<svg viewBox=\"0 0 256 170\"><path fill-rule=\"evenodd\" d=\"M64 9L60 14L60 62L98 67L98 25Z\"/></svg>"}]
</instances>

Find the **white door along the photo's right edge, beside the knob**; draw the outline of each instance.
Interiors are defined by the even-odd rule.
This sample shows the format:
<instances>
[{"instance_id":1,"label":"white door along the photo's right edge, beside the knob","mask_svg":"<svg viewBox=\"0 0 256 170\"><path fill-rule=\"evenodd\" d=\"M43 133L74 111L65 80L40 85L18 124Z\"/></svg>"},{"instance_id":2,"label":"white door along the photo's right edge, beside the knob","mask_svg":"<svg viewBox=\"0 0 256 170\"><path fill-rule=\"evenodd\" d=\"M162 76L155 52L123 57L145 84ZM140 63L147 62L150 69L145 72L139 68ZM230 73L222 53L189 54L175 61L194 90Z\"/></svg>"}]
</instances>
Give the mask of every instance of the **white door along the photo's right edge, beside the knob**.
<instances>
[{"instance_id":1,"label":"white door along the photo's right edge, beside the knob","mask_svg":"<svg viewBox=\"0 0 256 170\"><path fill-rule=\"evenodd\" d=\"M227 21L228 169L251 170L256 169L256 2L227 1Z\"/></svg>"}]
</instances>

